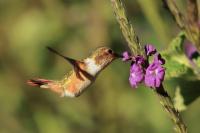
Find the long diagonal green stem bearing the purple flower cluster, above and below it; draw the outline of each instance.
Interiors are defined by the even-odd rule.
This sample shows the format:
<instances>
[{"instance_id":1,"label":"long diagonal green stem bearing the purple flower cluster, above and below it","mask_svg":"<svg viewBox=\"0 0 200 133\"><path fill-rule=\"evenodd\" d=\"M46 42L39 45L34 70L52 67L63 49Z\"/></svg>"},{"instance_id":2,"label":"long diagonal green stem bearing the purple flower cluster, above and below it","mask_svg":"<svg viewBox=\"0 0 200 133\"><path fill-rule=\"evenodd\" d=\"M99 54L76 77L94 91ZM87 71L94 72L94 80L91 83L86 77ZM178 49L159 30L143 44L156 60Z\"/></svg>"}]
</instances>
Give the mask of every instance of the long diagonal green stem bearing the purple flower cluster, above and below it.
<instances>
[{"instance_id":1,"label":"long diagonal green stem bearing the purple flower cluster, above and below it","mask_svg":"<svg viewBox=\"0 0 200 133\"><path fill-rule=\"evenodd\" d=\"M145 55L142 49L139 39L133 29L133 26L129 23L124 5L121 0L111 0L116 19L120 25L124 38L128 42L128 46L134 55L140 54ZM175 124L175 129L177 133L187 133L186 126L179 114L179 112L174 108L171 97L165 91L164 87L161 86L155 89L155 94L159 97L160 103L164 110L169 114L169 117L173 120Z\"/></svg>"}]
</instances>

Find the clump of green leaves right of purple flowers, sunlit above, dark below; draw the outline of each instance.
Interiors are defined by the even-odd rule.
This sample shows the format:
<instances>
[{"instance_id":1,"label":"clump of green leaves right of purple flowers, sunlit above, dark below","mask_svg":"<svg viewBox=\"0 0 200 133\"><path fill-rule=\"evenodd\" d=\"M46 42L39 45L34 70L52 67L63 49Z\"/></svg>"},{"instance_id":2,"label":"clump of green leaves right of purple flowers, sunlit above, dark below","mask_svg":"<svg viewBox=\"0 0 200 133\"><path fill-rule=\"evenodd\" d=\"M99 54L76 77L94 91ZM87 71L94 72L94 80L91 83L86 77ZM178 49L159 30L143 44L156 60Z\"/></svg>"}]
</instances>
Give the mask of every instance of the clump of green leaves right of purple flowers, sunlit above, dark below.
<instances>
[{"instance_id":1,"label":"clump of green leaves right of purple flowers, sunlit above, dark below","mask_svg":"<svg viewBox=\"0 0 200 133\"><path fill-rule=\"evenodd\" d=\"M199 70L197 66L200 66L200 58L193 60L194 64L191 65L183 51L184 39L185 34L181 32L172 40L168 49L161 53L166 60L166 83L174 89L174 105L179 111L185 110L200 96L199 71L194 73Z\"/></svg>"}]
</instances>

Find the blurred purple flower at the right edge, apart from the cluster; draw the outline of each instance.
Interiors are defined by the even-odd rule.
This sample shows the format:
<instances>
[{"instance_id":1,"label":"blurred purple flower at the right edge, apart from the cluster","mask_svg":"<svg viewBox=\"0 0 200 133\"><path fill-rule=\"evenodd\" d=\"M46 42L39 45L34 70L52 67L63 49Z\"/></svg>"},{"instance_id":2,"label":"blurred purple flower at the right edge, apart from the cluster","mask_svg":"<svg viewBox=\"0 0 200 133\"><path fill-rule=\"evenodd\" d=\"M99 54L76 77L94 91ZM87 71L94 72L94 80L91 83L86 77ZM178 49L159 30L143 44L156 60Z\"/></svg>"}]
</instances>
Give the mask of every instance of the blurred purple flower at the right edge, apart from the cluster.
<instances>
[{"instance_id":1,"label":"blurred purple flower at the right edge, apart from the cluster","mask_svg":"<svg viewBox=\"0 0 200 133\"><path fill-rule=\"evenodd\" d=\"M184 52L186 56L191 60L195 55L198 55L197 48L189 41L184 44Z\"/></svg>"}]
</instances>

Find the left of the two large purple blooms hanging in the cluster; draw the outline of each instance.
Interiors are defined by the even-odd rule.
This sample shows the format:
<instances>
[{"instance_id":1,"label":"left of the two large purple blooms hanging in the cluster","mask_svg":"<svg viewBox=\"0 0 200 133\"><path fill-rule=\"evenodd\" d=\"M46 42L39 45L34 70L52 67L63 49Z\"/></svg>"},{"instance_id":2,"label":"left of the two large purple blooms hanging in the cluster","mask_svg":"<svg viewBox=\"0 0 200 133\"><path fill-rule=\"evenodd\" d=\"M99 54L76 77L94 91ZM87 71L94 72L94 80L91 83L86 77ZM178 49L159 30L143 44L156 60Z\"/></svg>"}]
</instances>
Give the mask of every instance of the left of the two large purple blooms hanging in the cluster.
<instances>
[{"instance_id":1,"label":"left of the two large purple blooms hanging in the cluster","mask_svg":"<svg viewBox=\"0 0 200 133\"><path fill-rule=\"evenodd\" d=\"M144 79L144 71L140 64L133 64L130 69L129 82L133 88L137 88L137 85Z\"/></svg>"}]
</instances>

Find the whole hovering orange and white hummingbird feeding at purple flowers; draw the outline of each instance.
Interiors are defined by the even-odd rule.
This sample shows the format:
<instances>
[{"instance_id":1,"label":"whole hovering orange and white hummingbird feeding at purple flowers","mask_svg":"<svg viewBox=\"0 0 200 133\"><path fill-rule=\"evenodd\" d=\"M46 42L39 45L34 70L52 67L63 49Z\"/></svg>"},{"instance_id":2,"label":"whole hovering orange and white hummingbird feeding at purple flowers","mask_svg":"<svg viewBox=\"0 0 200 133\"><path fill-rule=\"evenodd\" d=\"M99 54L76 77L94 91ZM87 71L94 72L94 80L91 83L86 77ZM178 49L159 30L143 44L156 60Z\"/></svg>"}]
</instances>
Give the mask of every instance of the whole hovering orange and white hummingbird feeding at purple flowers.
<instances>
[{"instance_id":1,"label":"whole hovering orange and white hummingbird feeding at purple flowers","mask_svg":"<svg viewBox=\"0 0 200 133\"><path fill-rule=\"evenodd\" d=\"M122 57L113 52L110 48L100 47L97 48L89 57L78 61L66 57L50 47L47 48L51 52L67 60L73 66L73 70L61 80L38 78L30 79L27 83L31 86L38 86L40 88L51 90L54 93L59 94L61 97L78 97L95 81L97 75L106 66L116 58Z\"/></svg>"}]
</instances>

